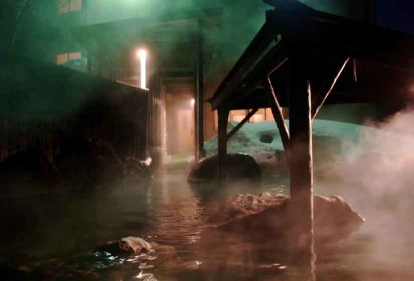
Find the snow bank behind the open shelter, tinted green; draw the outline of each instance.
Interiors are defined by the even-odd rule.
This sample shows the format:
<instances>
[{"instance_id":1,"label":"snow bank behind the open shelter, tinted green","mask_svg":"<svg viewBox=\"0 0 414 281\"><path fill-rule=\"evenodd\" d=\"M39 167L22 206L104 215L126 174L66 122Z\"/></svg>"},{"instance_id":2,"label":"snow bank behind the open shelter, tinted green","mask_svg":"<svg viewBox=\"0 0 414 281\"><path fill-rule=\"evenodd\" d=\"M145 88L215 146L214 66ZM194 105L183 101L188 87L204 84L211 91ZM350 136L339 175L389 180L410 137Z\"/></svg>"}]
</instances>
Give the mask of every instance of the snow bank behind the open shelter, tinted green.
<instances>
[{"instance_id":1,"label":"snow bank behind the open shelter, tinted green","mask_svg":"<svg viewBox=\"0 0 414 281\"><path fill-rule=\"evenodd\" d=\"M229 122L228 131L236 125L237 122ZM289 127L289 120L286 120L286 125ZM317 171L318 167L322 170L344 161L353 162L361 155L383 154L391 151L391 148L395 150L396 143L403 142L404 148L412 144L410 137L378 129L374 125L363 126L328 120L315 119L312 123L312 134ZM216 154L217 135L206 141L204 146L207 156ZM251 155L264 170L268 165L286 166L282 141L274 121L244 124L230 138L227 152Z\"/></svg>"}]
</instances>

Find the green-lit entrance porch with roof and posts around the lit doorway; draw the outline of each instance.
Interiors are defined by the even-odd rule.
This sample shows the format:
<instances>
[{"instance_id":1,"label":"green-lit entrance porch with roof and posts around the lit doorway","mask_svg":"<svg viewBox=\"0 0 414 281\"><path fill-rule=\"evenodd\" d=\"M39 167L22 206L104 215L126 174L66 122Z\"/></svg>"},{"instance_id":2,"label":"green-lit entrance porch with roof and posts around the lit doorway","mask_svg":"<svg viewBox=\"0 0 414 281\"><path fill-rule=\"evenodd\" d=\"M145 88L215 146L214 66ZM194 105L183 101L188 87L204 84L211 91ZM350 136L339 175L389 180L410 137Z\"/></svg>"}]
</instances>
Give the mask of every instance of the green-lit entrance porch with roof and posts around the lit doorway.
<instances>
[{"instance_id":1,"label":"green-lit entrance porch with roof and posts around the lit doorway","mask_svg":"<svg viewBox=\"0 0 414 281\"><path fill-rule=\"evenodd\" d=\"M204 73L208 73L222 14L221 8L184 11L75 27L72 33L88 51L88 72L117 81L136 76L136 52L148 51L148 112L154 120L148 125L150 146L161 144L162 136L157 136L164 115L161 88L173 94L193 89L196 156L205 156Z\"/></svg>"}]
</instances>

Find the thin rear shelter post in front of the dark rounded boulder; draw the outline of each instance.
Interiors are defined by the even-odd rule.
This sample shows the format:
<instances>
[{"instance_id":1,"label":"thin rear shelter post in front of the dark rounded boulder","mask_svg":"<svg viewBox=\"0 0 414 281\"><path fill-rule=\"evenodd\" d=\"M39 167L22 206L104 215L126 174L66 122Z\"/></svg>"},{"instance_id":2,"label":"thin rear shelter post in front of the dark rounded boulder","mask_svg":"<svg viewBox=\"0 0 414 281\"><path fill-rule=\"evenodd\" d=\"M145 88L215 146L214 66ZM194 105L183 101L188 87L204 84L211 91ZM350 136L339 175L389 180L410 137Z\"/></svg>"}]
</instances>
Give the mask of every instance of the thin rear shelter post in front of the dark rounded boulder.
<instances>
[{"instance_id":1,"label":"thin rear shelter post in front of the dark rounded boulder","mask_svg":"<svg viewBox=\"0 0 414 281\"><path fill-rule=\"evenodd\" d=\"M229 110L219 108L218 112L218 165L217 175L220 183L226 180L227 168L227 123Z\"/></svg>"}]
</instances>

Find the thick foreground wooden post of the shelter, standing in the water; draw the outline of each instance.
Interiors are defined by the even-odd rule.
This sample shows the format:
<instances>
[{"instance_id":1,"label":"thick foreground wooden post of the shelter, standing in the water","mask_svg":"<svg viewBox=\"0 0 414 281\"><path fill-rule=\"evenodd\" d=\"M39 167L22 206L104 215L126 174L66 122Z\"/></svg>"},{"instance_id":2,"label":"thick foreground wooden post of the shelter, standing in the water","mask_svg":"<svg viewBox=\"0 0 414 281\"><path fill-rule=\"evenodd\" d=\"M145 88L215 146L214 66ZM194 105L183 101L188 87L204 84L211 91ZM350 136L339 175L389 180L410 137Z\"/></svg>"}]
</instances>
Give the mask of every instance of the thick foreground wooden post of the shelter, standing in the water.
<instances>
[{"instance_id":1,"label":"thick foreground wooden post of the shelter, standing in the water","mask_svg":"<svg viewBox=\"0 0 414 281\"><path fill-rule=\"evenodd\" d=\"M289 57L290 188L296 225L296 261L313 267L313 164L311 86L303 50Z\"/></svg>"}]
</instances>

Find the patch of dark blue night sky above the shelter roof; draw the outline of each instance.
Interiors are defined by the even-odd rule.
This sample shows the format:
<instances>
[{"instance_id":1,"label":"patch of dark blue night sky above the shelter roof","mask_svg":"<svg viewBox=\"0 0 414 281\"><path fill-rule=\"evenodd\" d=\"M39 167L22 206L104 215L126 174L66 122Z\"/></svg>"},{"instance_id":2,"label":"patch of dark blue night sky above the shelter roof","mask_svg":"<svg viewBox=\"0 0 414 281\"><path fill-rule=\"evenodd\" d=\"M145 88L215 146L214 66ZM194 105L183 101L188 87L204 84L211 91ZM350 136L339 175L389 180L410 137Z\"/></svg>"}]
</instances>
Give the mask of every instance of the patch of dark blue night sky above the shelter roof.
<instances>
[{"instance_id":1,"label":"patch of dark blue night sky above the shelter roof","mask_svg":"<svg viewBox=\"0 0 414 281\"><path fill-rule=\"evenodd\" d=\"M378 24L414 34L414 0L377 0Z\"/></svg>"}]
</instances>

